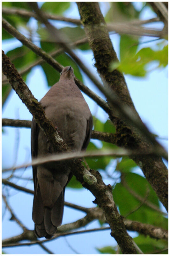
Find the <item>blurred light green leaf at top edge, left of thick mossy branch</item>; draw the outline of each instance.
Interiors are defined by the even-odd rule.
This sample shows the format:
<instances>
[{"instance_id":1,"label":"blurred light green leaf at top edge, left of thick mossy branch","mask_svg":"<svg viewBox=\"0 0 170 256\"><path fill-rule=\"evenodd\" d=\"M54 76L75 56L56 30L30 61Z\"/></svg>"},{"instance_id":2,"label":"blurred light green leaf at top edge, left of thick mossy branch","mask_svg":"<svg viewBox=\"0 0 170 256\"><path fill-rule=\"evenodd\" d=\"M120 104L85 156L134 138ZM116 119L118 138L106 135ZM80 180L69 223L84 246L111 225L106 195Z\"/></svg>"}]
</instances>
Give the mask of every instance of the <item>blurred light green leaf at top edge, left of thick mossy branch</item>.
<instances>
[{"instance_id":1,"label":"blurred light green leaf at top edge, left of thick mossy branch","mask_svg":"<svg viewBox=\"0 0 170 256\"><path fill-rule=\"evenodd\" d=\"M45 2L41 9L45 12L63 14L70 7L70 2Z\"/></svg>"}]
</instances>

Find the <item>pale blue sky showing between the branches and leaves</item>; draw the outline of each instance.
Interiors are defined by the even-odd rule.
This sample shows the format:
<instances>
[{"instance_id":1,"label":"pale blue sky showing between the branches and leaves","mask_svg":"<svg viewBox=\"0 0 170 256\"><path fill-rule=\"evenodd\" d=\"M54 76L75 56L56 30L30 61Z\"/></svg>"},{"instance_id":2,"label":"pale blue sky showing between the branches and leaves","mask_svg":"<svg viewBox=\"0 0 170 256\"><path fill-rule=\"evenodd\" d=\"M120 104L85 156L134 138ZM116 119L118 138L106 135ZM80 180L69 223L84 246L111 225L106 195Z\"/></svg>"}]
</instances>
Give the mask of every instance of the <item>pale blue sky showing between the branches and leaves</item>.
<instances>
[{"instance_id":1,"label":"pale blue sky showing between the branches and leaves","mask_svg":"<svg viewBox=\"0 0 170 256\"><path fill-rule=\"evenodd\" d=\"M103 12L107 10L107 6L103 5ZM154 17L149 11L145 11L142 14L143 19ZM152 15L152 17L151 17ZM79 18L78 10L76 4L72 3L70 11L67 11L67 17ZM62 26L62 22L56 22L58 28ZM161 24L160 24L161 26ZM112 43L114 45L115 51L119 57L119 40L120 36L111 35L110 36ZM150 37L144 37L144 41L152 40ZM155 43L145 44L145 47L151 46ZM12 39L11 41L6 41L2 44L2 49L7 52L16 46L20 46L21 43L18 40ZM83 60L85 65L97 75L97 71L93 67L93 56L92 52L86 51L81 52L77 51L79 57ZM91 90L98 93L100 96L102 94L95 88L91 83L89 78L84 75L84 83ZM141 116L143 122L147 125L151 132L157 134L159 137L167 138L168 137L168 68L165 69L156 69L150 72L144 78L137 78L132 76L125 76L130 95L134 102L134 105ZM56 81L57 82L57 81ZM40 66L33 68L29 76L27 77L26 84L32 91L35 98L41 100L45 93L49 90L47 85L46 77ZM108 118L107 114L100 108L96 107L96 104L84 94L85 100L87 101L91 112L93 115L96 115L102 122L105 122ZM26 106L18 98L18 95L12 90L8 100L6 101L4 108L2 110L2 118L15 118L15 119L25 119L31 120L32 116L29 113ZM30 129L26 128L10 128L5 127L4 133L2 135L2 166L11 167L13 164L23 164L28 161L31 161L31 152L30 152ZM18 152L17 152L17 161L16 161L16 148L18 141ZM160 140L159 142L167 149L168 141ZM138 173L142 172L140 169L137 169ZM6 177L5 174L4 177ZM22 177L32 177L32 168L27 168L25 171L18 171L18 175ZM105 180L108 183L108 180ZM20 180L17 182L18 185L33 189L33 183L27 182L25 180ZM20 220L29 227L30 229L34 228L32 221L32 203L33 196L26 193L18 192L14 189L9 190L9 204L13 208L14 212ZM85 207L95 207L92 203L94 196L85 189L76 190L76 189L66 189L65 201L70 203L75 203ZM2 202L2 206L4 203ZM69 223L79 218L82 218L85 214L68 207L64 209L63 224ZM9 221L10 213L5 212L3 215L2 223L2 239L8 238L9 236L18 235L20 228L14 221ZM87 228L96 228L99 227L97 221L93 221ZM10 232L9 232L10 230ZM132 236L136 235L130 232ZM70 248L69 244L80 254L96 254L97 251L95 247L103 247L107 245L114 246L116 243L110 236L110 231L100 231L89 234L81 235L72 235L68 236L67 241L64 237L61 237L54 242L48 242L46 245L50 250L54 251L57 254L74 254L75 252ZM88 243L88 246L86 244ZM38 245L29 246L29 247L13 247L5 248L5 252L9 254L36 254L44 253Z\"/></svg>"}]
</instances>

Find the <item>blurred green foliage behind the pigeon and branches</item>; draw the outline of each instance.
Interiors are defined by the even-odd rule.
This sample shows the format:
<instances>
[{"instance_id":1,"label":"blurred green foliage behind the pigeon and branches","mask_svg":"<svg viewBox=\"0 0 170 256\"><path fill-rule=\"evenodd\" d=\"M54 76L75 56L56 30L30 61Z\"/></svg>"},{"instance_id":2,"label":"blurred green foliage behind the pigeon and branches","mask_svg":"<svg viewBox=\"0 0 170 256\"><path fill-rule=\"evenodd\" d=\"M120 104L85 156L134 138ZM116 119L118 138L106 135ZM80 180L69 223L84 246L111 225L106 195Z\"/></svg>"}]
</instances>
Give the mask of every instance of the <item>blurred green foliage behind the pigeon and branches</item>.
<instances>
[{"instance_id":1,"label":"blurred green foliage behind the pigeon and branches","mask_svg":"<svg viewBox=\"0 0 170 256\"><path fill-rule=\"evenodd\" d=\"M109 23L125 22L132 19L137 19L146 5L146 3L143 2L139 11L131 2L110 2L109 4L110 9L105 15L105 20ZM62 16L64 15L64 12L70 8L70 5L70 2L44 2L41 6L41 9L45 12ZM26 2L2 2L2 6L8 8L18 7L30 10ZM26 36L31 38L33 42L35 40L36 44L40 45L40 47L45 52L51 53L52 51L59 49L57 43L54 42L53 38L48 35L44 26L42 26L39 22L37 22L37 28L35 28L34 31L31 31L31 28L29 27L30 18L23 18L19 15L3 15L3 17L9 21L12 26L19 29L19 31L24 31ZM66 23L65 27L61 28L60 31L64 33L64 35L72 43L86 37L85 31L81 26L75 25L75 27L69 27L68 23ZM10 41L11 38L12 36L8 34L4 29L2 29L2 40L13 42ZM156 63L156 68L166 67L168 63L168 46L166 40L162 40L161 43L156 42L154 49L143 47L141 50L138 50L139 43L139 36L121 35L120 63L111 63L110 68L112 70L118 68L124 74L142 77L146 76L149 72L149 63ZM82 51L90 50L89 44L87 43L78 45L77 47ZM10 57L11 61L19 71L33 64L39 58L35 53L33 53L25 46L14 48L13 50L7 52L7 56ZM61 53L55 57L55 60L57 60L63 66L71 65L74 68L75 76L83 82L83 78L78 65L67 54ZM43 63L41 67L45 73L49 86L52 86L59 80L60 74L58 71L54 70L54 68L49 66L47 63ZM25 81L27 79L27 75L30 72L31 69L23 75ZM7 99L10 91L11 86L9 84L3 85L3 104ZM94 130L100 132L115 133L115 127L109 120L107 120L105 123L102 123L96 117L93 119ZM103 151L108 148L116 149L117 146L103 141L100 142L100 150ZM99 149L99 147L96 146L94 141L90 142L87 151L96 149ZM104 156L86 158L85 161L85 166L87 164L91 169L100 170L102 173L106 174L105 176L107 176L107 169L110 166L112 171L110 183L113 186L113 197L120 213L123 216L127 215L127 218L130 220L137 220L143 223L148 223L167 229L168 220L165 215L144 203L146 200L158 209L160 208L158 197L156 196L152 187L148 184L144 177L135 173L137 165L133 160L129 159L128 157L115 159L111 156ZM120 179L116 180L118 174ZM68 184L68 187L73 189L80 189L82 188L82 185L76 180L75 176L73 176ZM136 195L142 198L143 202L137 199ZM100 222L100 224L102 225L103 223ZM152 239L148 236L144 237L142 235L138 235L134 241L145 254L154 253L167 247L166 241L157 241L156 239ZM103 254L115 254L117 247L105 246L103 248L97 248L97 250ZM165 251L162 253L167 254L168 252Z\"/></svg>"}]
</instances>

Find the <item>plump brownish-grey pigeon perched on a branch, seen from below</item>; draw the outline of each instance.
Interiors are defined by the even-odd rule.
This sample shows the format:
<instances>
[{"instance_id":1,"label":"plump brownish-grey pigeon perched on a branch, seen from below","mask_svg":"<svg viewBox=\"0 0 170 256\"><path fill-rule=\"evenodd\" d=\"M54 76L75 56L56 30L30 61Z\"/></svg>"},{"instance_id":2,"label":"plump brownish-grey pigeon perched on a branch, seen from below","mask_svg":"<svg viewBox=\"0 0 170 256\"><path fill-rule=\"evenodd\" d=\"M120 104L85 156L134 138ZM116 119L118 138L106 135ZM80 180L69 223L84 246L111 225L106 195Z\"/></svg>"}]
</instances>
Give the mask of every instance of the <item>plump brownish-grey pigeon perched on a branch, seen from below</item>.
<instances>
[{"instance_id":1,"label":"plump brownish-grey pigeon perched on a branch, seen from below","mask_svg":"<svg viewBox=\"0 0 170 256\"><path fill-rule=\"evenodd\" d=\"M63 68L59 81L40 100L47 118L72 152L87 149L93 119L91 111L75 84L71 66ZM31 125L32 159L56 154L35 119ZM64 193L73 174L66 164L59 162L33 166L34 232L37 237L51 238L63 220Z\"/></svg>"}]
</instances>

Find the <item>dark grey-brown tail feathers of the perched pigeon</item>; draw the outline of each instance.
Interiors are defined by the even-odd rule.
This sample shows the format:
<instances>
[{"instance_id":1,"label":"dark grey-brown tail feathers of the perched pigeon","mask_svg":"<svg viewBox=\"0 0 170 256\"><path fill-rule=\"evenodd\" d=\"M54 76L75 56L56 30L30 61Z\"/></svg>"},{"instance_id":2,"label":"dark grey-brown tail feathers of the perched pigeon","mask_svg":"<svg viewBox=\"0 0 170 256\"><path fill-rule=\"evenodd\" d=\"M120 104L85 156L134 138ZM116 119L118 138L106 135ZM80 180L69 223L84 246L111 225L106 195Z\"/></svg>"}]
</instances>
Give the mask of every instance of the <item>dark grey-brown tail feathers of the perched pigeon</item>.
<instances>
[{"instance_id":1,"label":"dark grey-brown tail feathers of the perched pigeon","mask_svg":"<svg viewBox=\"0 0 170 256\"><path fill-rule=\"evenodd\" d=\"M44 206L40 186L36 182L32 217L35 223L35 235L37 237L49 239L55 234L57 227L61 225L64 209L64 192L65 187L51 208Z\"/></svg>"}]
</instances>

